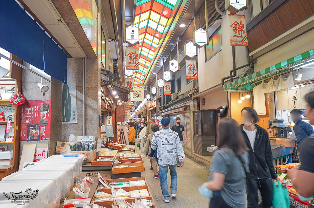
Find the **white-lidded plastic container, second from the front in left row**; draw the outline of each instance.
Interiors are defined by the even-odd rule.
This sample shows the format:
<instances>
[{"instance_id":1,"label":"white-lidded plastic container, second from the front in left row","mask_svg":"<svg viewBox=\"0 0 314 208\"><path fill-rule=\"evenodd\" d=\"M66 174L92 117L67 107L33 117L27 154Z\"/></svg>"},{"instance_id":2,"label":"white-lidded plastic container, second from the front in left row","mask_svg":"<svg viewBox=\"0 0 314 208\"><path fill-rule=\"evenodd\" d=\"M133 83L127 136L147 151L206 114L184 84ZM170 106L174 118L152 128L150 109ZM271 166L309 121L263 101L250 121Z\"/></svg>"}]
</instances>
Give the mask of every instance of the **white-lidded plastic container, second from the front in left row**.
<instances>
[{"instance_id":1,"label":"white-lidded plastic container, second from the front in left row","mask_svg":"<svg viewBox=\"0 0 314 208\"><path fill-rule=\"evenodd\" d=\"M26 180L53 180L53 186L55 189L49 195L55 195L53 201L49 201L49 204L55 205L52 207L59 208L60 200L65 199L65 183L66 172L65 171L36 171L33 173L19 171L11 175L8 175L2 179L3 181L26 181Z\"/></svg>"}]
</instances>

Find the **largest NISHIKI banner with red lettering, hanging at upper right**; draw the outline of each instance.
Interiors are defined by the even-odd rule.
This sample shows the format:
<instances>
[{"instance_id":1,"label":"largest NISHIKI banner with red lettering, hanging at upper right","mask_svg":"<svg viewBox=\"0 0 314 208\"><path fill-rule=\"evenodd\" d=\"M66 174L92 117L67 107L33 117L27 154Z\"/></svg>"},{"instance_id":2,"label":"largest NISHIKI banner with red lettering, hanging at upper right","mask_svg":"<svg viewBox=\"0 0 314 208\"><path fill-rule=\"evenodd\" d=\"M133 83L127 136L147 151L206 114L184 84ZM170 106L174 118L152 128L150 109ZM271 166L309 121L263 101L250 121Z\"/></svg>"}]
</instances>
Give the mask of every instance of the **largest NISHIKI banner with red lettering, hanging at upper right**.
<instances>
[{"instance_id":1,"label":"largest NISHIKI banner with red lettering, hanging at upper right","mask_svg":"<svg viewBox=\"0 0 314 208\"><path fill-rule=\"evenodd\" d=\"M249 46L247 42L245 16L240 14L228 14L230 23L230 45Z\"/></svg>"}]
</instances>

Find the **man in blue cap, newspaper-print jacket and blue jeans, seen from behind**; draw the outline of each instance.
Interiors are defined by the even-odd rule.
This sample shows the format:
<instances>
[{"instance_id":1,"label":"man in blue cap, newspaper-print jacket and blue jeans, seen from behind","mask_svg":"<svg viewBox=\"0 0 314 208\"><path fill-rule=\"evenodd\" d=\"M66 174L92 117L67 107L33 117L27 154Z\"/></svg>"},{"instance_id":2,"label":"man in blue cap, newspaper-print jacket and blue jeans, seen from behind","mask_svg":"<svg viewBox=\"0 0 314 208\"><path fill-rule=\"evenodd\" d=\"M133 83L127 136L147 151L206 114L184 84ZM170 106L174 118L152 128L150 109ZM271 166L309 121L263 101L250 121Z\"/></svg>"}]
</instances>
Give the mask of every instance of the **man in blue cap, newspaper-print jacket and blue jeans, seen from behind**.
<instances>
[{"instance_id":1,"label":"man in blue cap, newspaper-print jacket and blue jeans, seen from behind","mask_svg":"<svg viewBox=\"0 0 314 208\"><path fill-rule=\"evenodd\" d=\"M185 157L184 151L181 145L181 141L178 133L172 131L170 127L170 119L163 118L161 120L162 129L155 132L151 147L153 150L157 151L157 163L159 165L159 175L160 175L160 187L163 200L165 203L169 202L170 195L167 184L167 174L168 168L170 170L171 176L171 186L170 192L171 197L176 197L177 190L177 173L176 173L176 156L178 155L180 166L183 166L183 159Z\"/></svg>"}]
</instances>

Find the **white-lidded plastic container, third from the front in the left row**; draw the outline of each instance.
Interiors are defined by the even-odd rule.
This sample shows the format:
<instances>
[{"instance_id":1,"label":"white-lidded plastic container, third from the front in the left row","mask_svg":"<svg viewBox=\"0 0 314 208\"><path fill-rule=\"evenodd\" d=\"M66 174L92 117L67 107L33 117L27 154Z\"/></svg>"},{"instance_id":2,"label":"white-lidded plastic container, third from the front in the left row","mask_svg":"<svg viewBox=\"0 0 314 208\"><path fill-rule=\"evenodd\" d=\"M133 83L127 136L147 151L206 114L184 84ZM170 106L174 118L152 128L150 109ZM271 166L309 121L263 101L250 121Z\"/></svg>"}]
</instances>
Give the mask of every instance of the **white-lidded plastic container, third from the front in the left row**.
<instances>
[{"instance_id":1,"label":"white-lidded plastic container, third from the front in the left row","mask_svg":"<svg viewBox=\"0 0 314 208\"><path fill-rule=\"evenodd\" d=\"M35 164L30 167L24 168L23 171L52 171L63 170L66 172L67 181L64 183L64 189L66 190L65 196L68 197L70 190L74 185L74 164Z\"/></svg>"}]
</instances>

